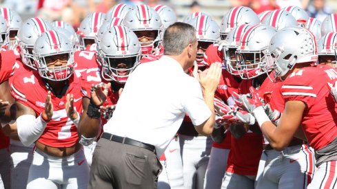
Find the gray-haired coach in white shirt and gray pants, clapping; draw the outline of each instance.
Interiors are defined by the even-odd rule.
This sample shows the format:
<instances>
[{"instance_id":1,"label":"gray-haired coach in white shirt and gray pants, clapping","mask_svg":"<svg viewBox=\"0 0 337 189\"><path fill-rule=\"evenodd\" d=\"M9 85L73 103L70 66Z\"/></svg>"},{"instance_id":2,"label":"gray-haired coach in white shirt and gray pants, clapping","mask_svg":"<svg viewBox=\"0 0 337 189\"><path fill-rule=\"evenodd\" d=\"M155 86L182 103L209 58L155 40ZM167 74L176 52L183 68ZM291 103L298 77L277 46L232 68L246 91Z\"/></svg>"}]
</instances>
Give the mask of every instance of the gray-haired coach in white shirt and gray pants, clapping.
<instances>
[{"instance_id":1,"label":"gray-haired coach in white shirt and gray pants, clapping","mask_svg":"<svg viewBox=\"0 0 337 189\"><path fill-rule=\"evenodd\" d=\"M195 78L185 74L194 64L198 45L194 27L187 23L168 27L163 44L162 58L139 65L127 79L94 151L89 188L156 188L158 157L185 113L198 133L212 133L221 65L212 64ZM92 92L91 106L101 105L98 93L102 91ZM96 118L88 121L99 124Z\"/></svg>"}]
</instances>

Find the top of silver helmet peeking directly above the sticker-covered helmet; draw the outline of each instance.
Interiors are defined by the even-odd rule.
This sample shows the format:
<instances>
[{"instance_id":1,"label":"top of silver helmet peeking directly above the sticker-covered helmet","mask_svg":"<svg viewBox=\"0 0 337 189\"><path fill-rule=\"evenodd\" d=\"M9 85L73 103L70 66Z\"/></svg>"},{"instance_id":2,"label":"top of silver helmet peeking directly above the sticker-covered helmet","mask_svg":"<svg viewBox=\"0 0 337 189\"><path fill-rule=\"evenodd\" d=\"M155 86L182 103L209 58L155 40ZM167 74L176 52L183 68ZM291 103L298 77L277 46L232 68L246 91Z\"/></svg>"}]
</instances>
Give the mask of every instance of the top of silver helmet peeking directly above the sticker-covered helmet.
<instances>
[{"instance_id":1,"label":"top of silver helmet peeking directly above the sticker-covered helmet","mask_svg":"<svg viewBox=\"0 0 337 189\"><path fill-rule=\"evenodd\" d=\"M274 10L270 12L261 23L275 27L276 30L282 30L285 27L297 26L297 21L286 10Z\"/></svg>"}]
</instances>

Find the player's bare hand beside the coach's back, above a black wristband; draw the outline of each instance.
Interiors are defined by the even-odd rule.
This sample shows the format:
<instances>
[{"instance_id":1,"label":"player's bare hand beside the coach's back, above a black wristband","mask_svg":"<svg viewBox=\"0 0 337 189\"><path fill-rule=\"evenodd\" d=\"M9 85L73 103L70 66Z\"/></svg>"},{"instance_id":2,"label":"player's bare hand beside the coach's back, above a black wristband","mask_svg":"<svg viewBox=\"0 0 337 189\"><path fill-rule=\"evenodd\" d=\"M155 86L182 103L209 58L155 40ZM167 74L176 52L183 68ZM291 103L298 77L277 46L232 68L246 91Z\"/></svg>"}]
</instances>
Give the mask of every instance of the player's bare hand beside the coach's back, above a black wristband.
<instances>
[{"instance_id":1,"label":"player's bare hand beside the coach's back, above a black wristband","mask_svg":"<svg viewBox=\"0 0 337 189\"><path fill-rule=\"evenodd\" d=\"M97 85L92 85L90 102L96 107L100 107L105 102L110 87L110 82L108 84L101 82Z\"/></svg>"}]
</instances>

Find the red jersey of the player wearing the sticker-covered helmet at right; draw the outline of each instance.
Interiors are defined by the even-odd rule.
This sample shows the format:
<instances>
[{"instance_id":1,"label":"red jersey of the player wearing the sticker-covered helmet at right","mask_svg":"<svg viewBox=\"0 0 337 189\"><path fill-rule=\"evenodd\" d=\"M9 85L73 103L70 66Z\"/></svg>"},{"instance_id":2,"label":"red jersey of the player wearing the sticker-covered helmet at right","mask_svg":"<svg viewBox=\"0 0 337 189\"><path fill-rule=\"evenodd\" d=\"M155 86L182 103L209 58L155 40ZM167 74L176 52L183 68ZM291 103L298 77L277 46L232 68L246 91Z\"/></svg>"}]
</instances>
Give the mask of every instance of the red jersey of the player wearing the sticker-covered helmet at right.
<instances>
[{"instance_id":1,"label":"red jersey of the player wearing the sticker-covered helmet at right","mask_svg":"<svg viewBox=\"0 0 337 189\"><path fill-rule=\"evenodd\" d=\"M306 104L300 125L315 150L337 136L337 104L327 87L327 82L334 83L336 79L336 69L327 65L304 67L290 74L281 87L285 103L298 100Z\"/></svg>"}]
</instances>

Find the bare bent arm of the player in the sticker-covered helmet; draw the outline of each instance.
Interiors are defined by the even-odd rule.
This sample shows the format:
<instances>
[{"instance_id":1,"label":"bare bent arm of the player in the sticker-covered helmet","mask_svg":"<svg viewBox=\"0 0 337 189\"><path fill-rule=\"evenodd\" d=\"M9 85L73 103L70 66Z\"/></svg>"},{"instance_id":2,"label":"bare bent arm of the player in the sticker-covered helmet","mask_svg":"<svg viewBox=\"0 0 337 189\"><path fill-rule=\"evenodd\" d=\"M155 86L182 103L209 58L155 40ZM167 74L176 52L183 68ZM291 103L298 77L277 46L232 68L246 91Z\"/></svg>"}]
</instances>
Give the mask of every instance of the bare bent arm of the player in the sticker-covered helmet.
<instances>
[{"instance_id":1,"label":"bare bent arm of the player in the sticker-covered helmet","mask_svg":"<svg viewBox=\"0 0 337 189\"><path fill-rule=\"evenodd\" d=\"M302 101L288 101L285 103L285 111L283 111L277 126L272 124L270 120L263 123L258 122L261 124L263 135L272 148L281 151L289 145L298 130L298 126L300 126L305 108L306 104ZM258 115L256 115L256 120L258 120Z\"/></svg>"}]
</instances>

